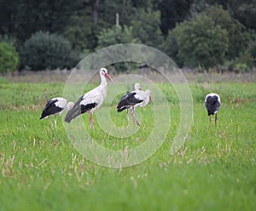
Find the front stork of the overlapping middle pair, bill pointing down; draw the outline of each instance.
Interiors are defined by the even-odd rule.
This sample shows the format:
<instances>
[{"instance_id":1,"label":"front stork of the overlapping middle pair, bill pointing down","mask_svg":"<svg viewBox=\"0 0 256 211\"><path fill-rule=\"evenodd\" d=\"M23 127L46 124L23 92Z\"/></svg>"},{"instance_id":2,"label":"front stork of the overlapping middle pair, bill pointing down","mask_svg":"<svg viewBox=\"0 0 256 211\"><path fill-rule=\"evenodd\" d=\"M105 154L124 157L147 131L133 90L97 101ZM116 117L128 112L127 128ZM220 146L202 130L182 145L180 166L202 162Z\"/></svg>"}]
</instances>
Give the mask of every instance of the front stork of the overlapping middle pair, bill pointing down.
<instances>
[{"instance_id":1,"label":"front stork of the overlapping middle pair, bill pointing down","mask_svg":"<svg viewBox=\"0 0 256 211\"><path fill-rule=\"evenodd\" d=\"M140 126L141 123L139 123L136 117L134 116L135 108L147 106L149 100L151 103L153 103L151 98L151 91L149 89L147 89L146 91L143 91L143 90L132 91L128 94L125 94L121 98L117 106L117 111L121 112L124 110L131 109L130 114L131 114L132 120L136 122L138 126Z\"/></svg>"}]
</instances>

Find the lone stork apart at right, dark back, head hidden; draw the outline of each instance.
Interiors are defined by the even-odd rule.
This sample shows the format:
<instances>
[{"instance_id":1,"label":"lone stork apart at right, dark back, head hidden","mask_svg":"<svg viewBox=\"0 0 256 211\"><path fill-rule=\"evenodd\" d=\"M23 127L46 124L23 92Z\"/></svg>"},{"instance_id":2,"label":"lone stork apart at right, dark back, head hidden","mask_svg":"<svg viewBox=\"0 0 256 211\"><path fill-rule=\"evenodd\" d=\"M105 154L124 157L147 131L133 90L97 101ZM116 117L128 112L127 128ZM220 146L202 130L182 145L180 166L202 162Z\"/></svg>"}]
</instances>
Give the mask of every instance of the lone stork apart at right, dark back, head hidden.
<instances>
[{"instance_id":1,"label":"lone stork apart at right, dark back, head hidden","mask_svg":"<svg viewBox=\"0 0 256 211\"><path fill-rule=\"evenodd\" d=\"M220 97L218 94L207 94L205 99L205 106L207 108L208 116L210 118L210 124L212 123L211 115L215 114L215 126L217 125L217 112L220 107Z\"/></svg>"}]
</instances>

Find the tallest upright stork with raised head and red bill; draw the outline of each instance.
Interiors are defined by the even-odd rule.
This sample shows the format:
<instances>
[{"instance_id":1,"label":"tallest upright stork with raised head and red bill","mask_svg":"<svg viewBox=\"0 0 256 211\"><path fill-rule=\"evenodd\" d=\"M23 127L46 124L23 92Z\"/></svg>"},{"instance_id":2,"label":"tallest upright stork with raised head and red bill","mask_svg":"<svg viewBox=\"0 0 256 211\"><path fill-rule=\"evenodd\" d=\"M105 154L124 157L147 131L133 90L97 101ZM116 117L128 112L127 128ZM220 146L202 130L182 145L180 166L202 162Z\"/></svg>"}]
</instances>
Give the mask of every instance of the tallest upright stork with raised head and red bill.
<instances>
[{"instance_id":1,"label":"tallest upright stork with raised head and red bill","mask_svg":"<svg viewBox=\"0 0 256 211\"><path fill-rule=\"evenodd\" d=\"M112 81L111 77L108 75L108 70L106 68L101 68L100 70L101 84L90 90L90 92L84 94L79 98L75 103L73 108L67 112L65 117L65 122L70 123L75 117L78 117L80 114L90 112L90 128L94 128L92 114L93 111L96 111L100 106L102 106L103 101L107 96L107 80L105 77L108 77Z\"/></svg>"}]
</instances>

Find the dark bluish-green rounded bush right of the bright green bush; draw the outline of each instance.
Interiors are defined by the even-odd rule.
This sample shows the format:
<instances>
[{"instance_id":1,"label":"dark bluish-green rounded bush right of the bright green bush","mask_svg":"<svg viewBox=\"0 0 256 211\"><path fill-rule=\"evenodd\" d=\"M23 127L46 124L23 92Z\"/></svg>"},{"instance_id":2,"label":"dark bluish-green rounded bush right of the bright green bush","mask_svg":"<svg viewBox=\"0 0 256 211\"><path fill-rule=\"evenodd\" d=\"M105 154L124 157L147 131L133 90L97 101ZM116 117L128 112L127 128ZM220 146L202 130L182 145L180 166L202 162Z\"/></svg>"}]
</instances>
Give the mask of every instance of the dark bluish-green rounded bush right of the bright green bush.
<instances>
[{"instance_id":1,"label":"dark bluish-green rounded bush right of the bright green bush","mask_svg":"<svg viewBox=\"0 0 256 211\"><path fill-rule=\"evenodd\" d=\"M32 71L69 68L74 60L72 46L67 39L49 32L36 32L26 40L21 50L21 63Z\"/></svg>"}]
</instances>

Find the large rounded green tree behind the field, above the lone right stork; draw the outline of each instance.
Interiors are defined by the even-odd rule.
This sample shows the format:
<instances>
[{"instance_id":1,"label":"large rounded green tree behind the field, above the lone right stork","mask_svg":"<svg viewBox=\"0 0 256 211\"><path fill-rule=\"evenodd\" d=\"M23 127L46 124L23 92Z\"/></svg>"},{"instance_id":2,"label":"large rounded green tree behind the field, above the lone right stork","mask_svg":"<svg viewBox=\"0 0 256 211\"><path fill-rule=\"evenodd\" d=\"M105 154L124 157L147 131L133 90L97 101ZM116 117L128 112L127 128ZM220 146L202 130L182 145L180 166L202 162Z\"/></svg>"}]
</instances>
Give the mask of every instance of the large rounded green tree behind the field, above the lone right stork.
<instances>
[{"instance_id":1,"label":"large rounded green tree behind the field, above the lone right stork","mask_svg":"<svg viewBox=\"0 0 256 211\"><path fill-rule=\"evenodd\" d=\"M205 14L177 25L173 33L178 44L177 56L186 66L210 68L224 62L229 48L228 32Z\"/></svg>"}]
</instances>

